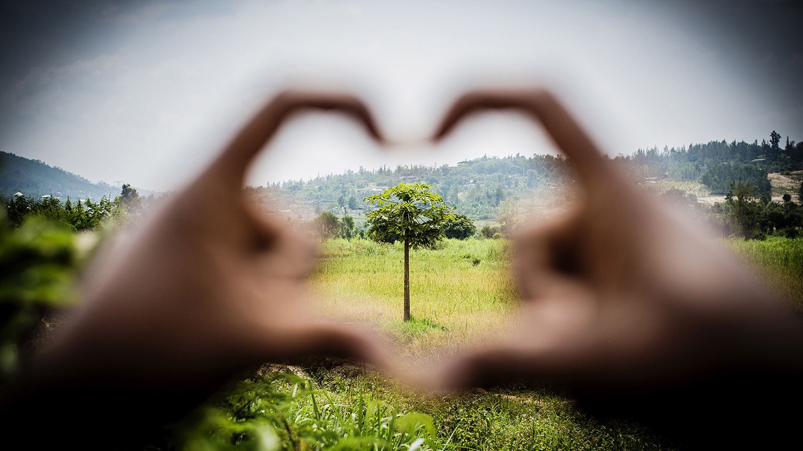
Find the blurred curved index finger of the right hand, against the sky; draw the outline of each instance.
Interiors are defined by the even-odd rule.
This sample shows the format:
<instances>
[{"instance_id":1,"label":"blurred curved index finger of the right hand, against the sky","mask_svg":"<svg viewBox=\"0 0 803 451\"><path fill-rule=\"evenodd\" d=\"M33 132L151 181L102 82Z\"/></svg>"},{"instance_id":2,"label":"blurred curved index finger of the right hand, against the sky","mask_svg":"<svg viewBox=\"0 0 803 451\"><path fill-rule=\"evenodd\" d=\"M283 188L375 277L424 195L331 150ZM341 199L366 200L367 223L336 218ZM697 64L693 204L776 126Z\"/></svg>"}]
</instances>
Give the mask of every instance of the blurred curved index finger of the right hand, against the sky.
<instances>
[{"instance_id":1,"label":"blurred curved index finger of the right hand, against the sky","mask_svg":"<svg viewBox=\"0 0 803 451\"><path fill-rule=\"evenodd\" d=\"M540 121L552 140L577 167L586 188L601 188L597 183L619 181L612 165L602 156L585 129L548 91L532 90L479 90L459 98L442 123L433 140L442 140L464 117L488 109L513 108Z\"/></svg>"}]
</instances>

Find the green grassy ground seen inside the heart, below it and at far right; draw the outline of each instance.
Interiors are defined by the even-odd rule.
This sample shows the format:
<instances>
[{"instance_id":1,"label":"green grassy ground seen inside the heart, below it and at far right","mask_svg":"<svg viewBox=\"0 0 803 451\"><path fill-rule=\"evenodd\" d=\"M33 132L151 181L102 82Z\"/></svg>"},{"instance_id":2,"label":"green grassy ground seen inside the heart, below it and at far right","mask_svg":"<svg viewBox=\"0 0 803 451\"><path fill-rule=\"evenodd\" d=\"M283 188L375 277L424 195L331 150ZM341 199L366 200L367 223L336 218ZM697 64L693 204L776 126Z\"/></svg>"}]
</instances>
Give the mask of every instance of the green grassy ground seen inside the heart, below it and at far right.
<instances>
[{"instance_id":1,"label":"green grassy ground seen inside the heart, below it and at far right","mask_svg":"<svg viewBox=\"0 0 803 451\"><path fill-rule=\"evenodd\" d=\"M735 258L755 264L761 277L800 307L803 239L728 239L724 245L736 251ZM410 323L401 321L403 251L398 245L327 242L310 295L324 316L373 324L395 342L403 359L426 368L434 347L465 346L505 332L517 303L509 248L506 240L447 240L441 249L411 253L415 319ZM547 389L434 397L351 364L289 371L295 374L268 371L232 390L234 395L207 412L206 423L194 425L188 436L194 440L186 443L200 448L198 440L208 434L198 432L208 432L211 424L218 440L240 437L243 445L255 444L248 437L263 437L255 431L269 430L270 437L263 439L279 449L672 448L638 425L584 416L573 400Z\"/></svg>"}]
</instances>

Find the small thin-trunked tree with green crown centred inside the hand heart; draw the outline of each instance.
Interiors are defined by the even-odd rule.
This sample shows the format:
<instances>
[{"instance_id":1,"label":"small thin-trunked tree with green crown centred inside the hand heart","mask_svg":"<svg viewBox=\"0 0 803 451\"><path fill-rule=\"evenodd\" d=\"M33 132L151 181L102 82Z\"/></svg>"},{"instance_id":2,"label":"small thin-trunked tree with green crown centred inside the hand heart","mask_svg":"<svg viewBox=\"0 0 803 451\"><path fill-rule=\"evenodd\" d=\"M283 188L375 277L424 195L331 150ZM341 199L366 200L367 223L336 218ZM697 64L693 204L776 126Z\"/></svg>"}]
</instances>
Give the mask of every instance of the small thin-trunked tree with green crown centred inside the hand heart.
<instances>
[{"instance_id":1,"label":"small thin-trunked tree with green crown centred inside the hand heart","mask_svg":"<svg viewBox=\"0 0 803 451\"><path fill-rule=\"evenodd\" d=\"M365 197L366 202L379 207L365 215L369 236L381 242L404 242L405 321L410 321L410 248L434 246L446 237L442 225L454 220L452 208L430 189L432 185L402 182Z\"/></svg>"}]
</instances>

